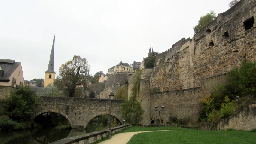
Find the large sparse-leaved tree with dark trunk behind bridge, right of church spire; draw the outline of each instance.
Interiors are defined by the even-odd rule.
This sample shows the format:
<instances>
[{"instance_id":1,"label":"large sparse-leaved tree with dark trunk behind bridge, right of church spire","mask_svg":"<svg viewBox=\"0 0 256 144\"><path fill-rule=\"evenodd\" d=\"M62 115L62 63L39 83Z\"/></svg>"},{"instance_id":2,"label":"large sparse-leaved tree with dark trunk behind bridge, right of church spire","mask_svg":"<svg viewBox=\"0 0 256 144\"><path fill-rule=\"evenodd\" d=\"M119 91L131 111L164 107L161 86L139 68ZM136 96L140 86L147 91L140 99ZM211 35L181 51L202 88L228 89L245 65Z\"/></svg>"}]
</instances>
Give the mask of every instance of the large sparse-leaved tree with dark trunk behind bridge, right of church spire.
<instances>
[{"instance_id":1,"label":"large sparse-leaved tree with dark trunk behind bridge, right of church spire","mask_svg":"<svg viewBox=\"0 0 256 144\"><path fill-rule=\"evenodd\" d=\"M87 87L86 73L90 71L90 68L86 58L75 55L72 60L59 67L59 75L54 83L69 97L74 97L77 85L82 85L83 88Z\"/></svg>"}]
</instances>

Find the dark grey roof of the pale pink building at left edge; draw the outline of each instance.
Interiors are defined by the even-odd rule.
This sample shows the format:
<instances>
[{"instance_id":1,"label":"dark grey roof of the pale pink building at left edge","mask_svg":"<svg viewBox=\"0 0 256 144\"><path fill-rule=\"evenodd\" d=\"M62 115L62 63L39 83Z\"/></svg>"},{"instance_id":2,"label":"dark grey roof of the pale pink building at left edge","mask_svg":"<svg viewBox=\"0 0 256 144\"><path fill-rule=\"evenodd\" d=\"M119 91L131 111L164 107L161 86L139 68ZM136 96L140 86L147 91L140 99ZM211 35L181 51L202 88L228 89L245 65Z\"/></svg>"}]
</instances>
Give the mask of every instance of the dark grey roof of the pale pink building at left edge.
<instances>
[{"instance_id":1,"label":"dark grey roof of the pale pink building at left edge","mask_svg":"<svg viewBox=\"0 0 256 144\"><path fill-rule=\"evenodd\" d=\"M20 62L15 62L15 60L12 59L0 59L0 67L4 71L4 75L0 77L0 81L9 82L9 77L14 72L14 70L16 70L19 64Z\"/></svg>"}]
</instances>

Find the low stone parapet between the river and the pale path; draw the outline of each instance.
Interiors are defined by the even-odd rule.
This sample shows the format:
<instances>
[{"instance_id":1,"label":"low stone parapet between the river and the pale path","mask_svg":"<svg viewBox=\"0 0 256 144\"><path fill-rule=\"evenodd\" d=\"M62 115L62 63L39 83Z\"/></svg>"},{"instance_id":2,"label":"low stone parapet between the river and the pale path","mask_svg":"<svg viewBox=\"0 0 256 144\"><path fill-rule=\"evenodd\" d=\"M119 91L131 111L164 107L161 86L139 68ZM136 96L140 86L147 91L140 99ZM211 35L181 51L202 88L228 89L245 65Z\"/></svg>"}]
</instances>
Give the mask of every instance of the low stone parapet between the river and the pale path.
<instances>
[{"instance_id":1,"label":"low stone parapet between the river and the pale path","mask_svg":"<svg viewBox=\"0 0 256 144\"><path fill-rule=\"evenodd\" d=\"M132 126L133 126L132 124L128 124L128 125L121 125L118 127L111 128L111 134L114 134L117 131L122 131L123 129L129 128ZM89 144L97 140L100 140L102 137L108 137L108 129L57 140L50 144L78 144L78 143Z\"/></svg>"}]
</instances>

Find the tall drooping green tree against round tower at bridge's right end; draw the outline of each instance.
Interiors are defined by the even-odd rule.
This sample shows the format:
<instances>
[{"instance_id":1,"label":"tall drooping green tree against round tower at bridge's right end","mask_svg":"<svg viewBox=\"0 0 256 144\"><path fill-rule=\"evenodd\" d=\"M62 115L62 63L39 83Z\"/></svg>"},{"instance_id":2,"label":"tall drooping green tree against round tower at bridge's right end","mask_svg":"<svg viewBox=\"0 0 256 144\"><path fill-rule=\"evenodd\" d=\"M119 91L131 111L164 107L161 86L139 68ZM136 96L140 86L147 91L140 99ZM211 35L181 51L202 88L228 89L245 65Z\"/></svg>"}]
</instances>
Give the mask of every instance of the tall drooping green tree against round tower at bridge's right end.
<instances>
[{"instance_id":1,"label":"tall drooping green tree against round tower at bridge's right end","mask_svg":"<svg viewBox=\"0 0 256 144\"><path fill-rule=\"evenodd\" d=\"M135 77L136 80L133 82L131 96L121 104L121 116L128 123L136 124L141 122L143 119L144 110L141 107L141 103L136 99L139 95L141 75L142 70L137 70Z\"/></svg>"}]
</instances>

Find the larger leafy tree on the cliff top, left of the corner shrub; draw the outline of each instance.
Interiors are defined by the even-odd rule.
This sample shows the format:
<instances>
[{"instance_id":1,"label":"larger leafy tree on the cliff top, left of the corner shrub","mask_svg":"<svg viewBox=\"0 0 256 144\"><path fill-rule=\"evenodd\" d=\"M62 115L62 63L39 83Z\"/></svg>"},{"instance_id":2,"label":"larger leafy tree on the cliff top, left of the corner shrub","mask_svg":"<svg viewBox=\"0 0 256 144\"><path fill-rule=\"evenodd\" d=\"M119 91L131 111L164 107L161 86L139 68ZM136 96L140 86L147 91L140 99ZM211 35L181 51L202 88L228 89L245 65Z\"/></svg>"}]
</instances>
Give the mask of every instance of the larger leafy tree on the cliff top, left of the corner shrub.
<instances>
[{"instance_id":1,"label":"larger leafy tree on the cliff top, left of the corner shrub","mask_svg":"<svg viewBox=\"0 0 256 144\"><path fill-rule=\"evenodd\" d=\"M216 18L216 14L214 10L211 10L210 13L206 13L206 15L202 15L198 24L193 28L194 33L197 34L201 29L209 25Z\"/></svg>"}]
</instances>

